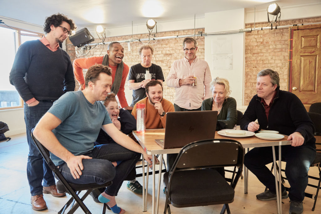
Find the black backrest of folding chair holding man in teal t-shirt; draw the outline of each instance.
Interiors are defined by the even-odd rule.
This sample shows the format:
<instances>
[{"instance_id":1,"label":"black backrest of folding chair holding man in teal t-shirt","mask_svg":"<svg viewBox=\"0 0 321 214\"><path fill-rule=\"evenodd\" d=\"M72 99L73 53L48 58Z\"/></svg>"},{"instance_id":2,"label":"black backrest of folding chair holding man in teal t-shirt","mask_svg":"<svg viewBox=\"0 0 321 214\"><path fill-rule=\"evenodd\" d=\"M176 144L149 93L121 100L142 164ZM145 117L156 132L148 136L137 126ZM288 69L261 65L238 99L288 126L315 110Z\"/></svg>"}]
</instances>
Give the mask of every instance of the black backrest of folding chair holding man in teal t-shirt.
<instances>
[{"instance_id":1,"label":"black backrest of folding chair holding man in teal t-shirt","mask_svg":"<svg viewBox=\"0 0 321 214\"><path fill-rule=\"evenodd\" d=\"M46 163L48 164L49 168L55 173L56 177L63 183L66 184L68 183L64 176L60 173L59 169L56 167L54 162L52 162L50 158L49 151L46 147L44 147L33 135L33 129L31 130L31 138L33 142L36 144L40 154L42 157L45 159ZM69 189L68 189L69 190ZM70 189L71 190L71 189Z\"/></svg>"}]
</instances>

